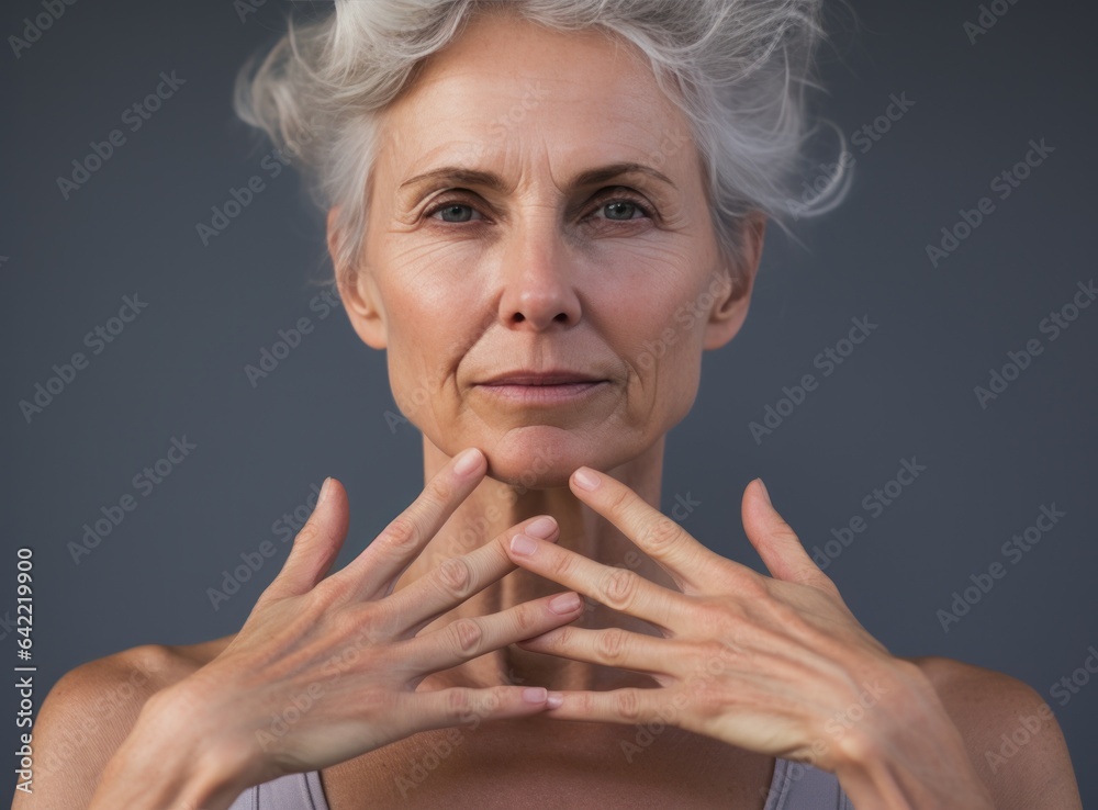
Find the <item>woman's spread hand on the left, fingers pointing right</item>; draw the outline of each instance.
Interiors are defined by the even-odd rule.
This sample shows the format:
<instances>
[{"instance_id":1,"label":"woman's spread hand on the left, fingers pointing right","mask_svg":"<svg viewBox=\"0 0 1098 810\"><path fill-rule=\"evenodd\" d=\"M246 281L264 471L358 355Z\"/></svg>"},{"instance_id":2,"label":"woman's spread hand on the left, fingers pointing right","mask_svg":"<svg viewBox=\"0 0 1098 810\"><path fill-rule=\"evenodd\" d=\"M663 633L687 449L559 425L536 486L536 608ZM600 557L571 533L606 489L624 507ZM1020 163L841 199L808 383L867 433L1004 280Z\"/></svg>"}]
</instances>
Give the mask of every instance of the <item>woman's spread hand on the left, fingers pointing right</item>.
<instances>
[{"instance_id":1,"label":"woman's spread hand on the left, fingers pointing right","mask_svg":"<svg viewBox=\"0 0 1098 810\"><path fill-rule=\"evenodd\" d=\"M326 481L285 564L240 632L213 661L166 690L175 711L209 723L219 751L240 763L248 785L344 762L417 731L530 715L549 705L542 687L416 691L429 673L582 612L574 594L574 607L554 611L557 594L417 635L513 571L505 540L537 520L444 561L393 593L402 572L483 477L483 454L472 450L471 458L472 468L459 472L462 454L456 457L361 554L327 577L347 532L348 509L343 486ZM551 524L545 540L557 533Z\"/></svg>"}]
</instances>

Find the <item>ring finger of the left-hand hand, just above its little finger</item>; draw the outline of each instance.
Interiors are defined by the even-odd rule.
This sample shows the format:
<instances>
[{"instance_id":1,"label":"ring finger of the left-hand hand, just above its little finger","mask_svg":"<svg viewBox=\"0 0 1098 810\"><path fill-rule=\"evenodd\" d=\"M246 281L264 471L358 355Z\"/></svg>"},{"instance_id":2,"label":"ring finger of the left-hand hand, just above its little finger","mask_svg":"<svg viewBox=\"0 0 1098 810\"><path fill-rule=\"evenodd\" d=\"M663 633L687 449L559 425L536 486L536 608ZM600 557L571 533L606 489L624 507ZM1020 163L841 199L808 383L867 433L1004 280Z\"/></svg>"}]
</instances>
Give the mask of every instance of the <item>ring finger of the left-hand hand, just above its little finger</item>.
<instances>
[{"instance_id":1,"label":"ring finger of the left-hand hand, just above its little finger","mask_svg":"<svg viewBox=\"0 0 1098 810\"><path fill-rule=\"evenodd\" d=\"M416 672L437 672L540 635L582 615L583 599L579 594L544 596L490 616L457 619L440 630L408 639L402 642L401 661Z\"/></svg>"}]
</instances>

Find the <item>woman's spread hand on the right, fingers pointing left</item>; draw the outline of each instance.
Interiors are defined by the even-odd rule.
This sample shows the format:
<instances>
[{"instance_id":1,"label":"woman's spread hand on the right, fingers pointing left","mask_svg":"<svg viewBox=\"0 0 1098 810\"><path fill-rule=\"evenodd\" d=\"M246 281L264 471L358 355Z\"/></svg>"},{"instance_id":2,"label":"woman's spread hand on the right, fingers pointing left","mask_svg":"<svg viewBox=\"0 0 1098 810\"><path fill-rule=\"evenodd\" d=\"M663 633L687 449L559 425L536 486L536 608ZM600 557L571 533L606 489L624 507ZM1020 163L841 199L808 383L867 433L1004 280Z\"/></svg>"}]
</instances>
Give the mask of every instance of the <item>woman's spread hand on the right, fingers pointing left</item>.
<instances>
[{"instance_id":1,"label":"woman's spread hand on the right, fingers pointing left","mask_svg":"<svg viewBox=\"0 0 1098 810\"><path fill-rule=\"evenodd\" d=\"M579 484L589 476L596 482L591 491ZM923 697L932 700L918 667L892 656L854 619L761 481L744 492L742 517L773 578L708 550L608 475L581 468L569 483L679 590L536 539L512 540L518 565L662 632L561 627L520 642L535 652L647 673L659 685L564 691L547 717L659 721L837 770L886 728L901 729L904 712Z\"/></svg>"}]
</instances>

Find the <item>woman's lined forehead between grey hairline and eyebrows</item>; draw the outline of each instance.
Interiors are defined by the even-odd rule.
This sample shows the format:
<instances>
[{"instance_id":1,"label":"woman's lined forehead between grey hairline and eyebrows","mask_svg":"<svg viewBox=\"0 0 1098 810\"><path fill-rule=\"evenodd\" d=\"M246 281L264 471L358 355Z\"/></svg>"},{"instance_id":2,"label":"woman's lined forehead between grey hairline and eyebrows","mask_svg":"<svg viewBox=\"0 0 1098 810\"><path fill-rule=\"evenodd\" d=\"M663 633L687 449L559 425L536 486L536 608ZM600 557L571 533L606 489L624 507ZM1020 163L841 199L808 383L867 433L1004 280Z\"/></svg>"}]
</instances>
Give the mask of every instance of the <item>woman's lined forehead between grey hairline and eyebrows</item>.
<instances>
[{"instance_id":1,"label":"woman's lined forehead between grey hairline and eyebrows","mask_svg":"<svg viewBox=\"0 0 1098 810\"><path fill-rule=\"evenodd\" d=\"M674 158L666 144L682 144L687 126L631 44L501 12L472 18L381 120L397 170L498 155L662 168Z\"/></svg>"}]
</instances>

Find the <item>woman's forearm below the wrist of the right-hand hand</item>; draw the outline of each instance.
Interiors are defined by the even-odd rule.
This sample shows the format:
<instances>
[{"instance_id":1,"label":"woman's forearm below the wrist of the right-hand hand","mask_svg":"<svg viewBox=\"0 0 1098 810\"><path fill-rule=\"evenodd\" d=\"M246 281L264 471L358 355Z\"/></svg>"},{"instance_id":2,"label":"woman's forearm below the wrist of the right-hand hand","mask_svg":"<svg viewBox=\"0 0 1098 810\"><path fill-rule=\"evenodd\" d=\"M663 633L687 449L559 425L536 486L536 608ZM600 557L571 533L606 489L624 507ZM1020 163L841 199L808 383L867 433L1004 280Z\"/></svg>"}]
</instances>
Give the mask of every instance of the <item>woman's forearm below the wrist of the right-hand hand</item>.
<instances>
[{"instance_id":1,"label":"woman's forearm below the wrist of the right-hand hand","mask_svg":"<svg viewBox=\"0 0 1098 810\"><path fill-rule=\"evenodd\" d=\"M893 696L843 746L836 775L854 807L995 810L933 687L916 679Z\"/></svg>"}]
</instances>

